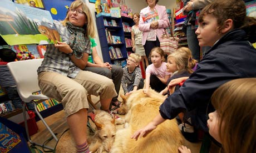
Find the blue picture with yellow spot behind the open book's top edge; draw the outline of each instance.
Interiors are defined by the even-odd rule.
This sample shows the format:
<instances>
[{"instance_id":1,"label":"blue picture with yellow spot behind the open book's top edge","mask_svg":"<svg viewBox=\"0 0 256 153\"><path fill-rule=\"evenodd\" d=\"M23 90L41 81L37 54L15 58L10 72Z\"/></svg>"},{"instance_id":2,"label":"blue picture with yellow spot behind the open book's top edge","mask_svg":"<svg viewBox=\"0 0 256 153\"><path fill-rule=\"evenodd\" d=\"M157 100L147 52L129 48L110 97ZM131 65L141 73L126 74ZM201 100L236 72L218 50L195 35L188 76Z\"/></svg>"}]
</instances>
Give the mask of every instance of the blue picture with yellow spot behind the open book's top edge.
<instances>
[{"instance_id":1,"label":"blue picture with yellow spot behind the open book's top edge","mask_svg":"<svg viewBox=\"0 0 256 153\"><path fill-rule=\"evenodd\" d=\"M66 18L67 10L73 1L74 0L43 0L43 6L51 13L53 19L60 21Z\"/></svg>"}]
</instances>

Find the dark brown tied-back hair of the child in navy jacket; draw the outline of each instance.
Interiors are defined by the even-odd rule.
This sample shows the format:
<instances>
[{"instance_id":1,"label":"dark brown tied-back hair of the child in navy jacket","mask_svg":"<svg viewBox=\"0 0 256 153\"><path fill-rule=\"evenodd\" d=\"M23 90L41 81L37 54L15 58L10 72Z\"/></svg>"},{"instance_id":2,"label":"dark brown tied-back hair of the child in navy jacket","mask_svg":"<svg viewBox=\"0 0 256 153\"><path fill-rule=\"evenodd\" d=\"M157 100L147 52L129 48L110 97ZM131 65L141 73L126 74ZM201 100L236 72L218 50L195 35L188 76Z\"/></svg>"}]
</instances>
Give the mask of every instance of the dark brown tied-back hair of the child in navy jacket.
<instances>
[{"instance_id":1,"label":"dark brown tied-back hair of the child in navy jacket","mask_svg":"<svg viewBox=\"0 0 256 153\"><path fill-rule=\"evenodd\" d=\"M243 29L251 43L256 42L256 19L246 16L245 3L242 0L217 0L205 6L199 16L199 23L203 22L205 14L211 14L217 19L218 32L224 28L224 22L232 19L234 29Z\"/></svg>"}]
</instances>

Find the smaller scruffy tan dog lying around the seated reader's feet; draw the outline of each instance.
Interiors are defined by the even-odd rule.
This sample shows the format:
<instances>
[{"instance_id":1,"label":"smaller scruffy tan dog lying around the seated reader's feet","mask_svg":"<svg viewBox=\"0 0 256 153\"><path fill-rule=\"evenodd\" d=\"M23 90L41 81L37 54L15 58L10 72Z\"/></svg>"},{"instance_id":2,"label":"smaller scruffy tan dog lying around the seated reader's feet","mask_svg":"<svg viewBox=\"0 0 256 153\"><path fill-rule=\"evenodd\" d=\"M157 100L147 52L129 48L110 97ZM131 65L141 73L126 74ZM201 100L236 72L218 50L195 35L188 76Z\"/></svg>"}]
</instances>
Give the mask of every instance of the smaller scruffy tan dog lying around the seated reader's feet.
<instances>
[{"instance_id":1,"label":"smaller scruffy tan dog lying around the seated reader's feet","mask_svg":"<svg viewBox=\"0 0 256 153\"><path fill-rule=\"evenodd\" d=\"M91 134L87 127L89 149L92 152L109 152L115 140L115 123L124 124L124 119L112 119L109 113L102 110L93 110L93 113L95 114L95 122L90 118L88 122L95 133ZM76 152L76 144L69 131L61 136L59 141L60 143L57 144L56 152Z\"/></svg>"}]
</instances>

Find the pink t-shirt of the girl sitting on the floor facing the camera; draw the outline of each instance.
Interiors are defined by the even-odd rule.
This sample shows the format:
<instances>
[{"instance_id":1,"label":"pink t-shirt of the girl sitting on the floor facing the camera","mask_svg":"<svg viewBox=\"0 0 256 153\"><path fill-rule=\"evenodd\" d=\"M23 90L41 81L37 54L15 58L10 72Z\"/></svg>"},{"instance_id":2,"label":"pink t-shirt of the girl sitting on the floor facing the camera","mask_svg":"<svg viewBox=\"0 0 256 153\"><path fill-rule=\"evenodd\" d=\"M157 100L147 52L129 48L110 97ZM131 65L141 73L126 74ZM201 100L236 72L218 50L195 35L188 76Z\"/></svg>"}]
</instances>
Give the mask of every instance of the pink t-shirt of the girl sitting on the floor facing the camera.
<instances>
[{"instance_id":1,"label":"pink t-shirt of the girl sitting on the floor facing the camera","mask_svg":"<svg viewBox=\"0 0 256 153\"><path fill-rule=\"evenodd\" d=\"M150 64L146 68L146 74L153 74L165 78L165 75L171 75L171 72L166 71L166 62L162 62L161 67L156 68L154 64Z\"/></svg>"}]
</instances>

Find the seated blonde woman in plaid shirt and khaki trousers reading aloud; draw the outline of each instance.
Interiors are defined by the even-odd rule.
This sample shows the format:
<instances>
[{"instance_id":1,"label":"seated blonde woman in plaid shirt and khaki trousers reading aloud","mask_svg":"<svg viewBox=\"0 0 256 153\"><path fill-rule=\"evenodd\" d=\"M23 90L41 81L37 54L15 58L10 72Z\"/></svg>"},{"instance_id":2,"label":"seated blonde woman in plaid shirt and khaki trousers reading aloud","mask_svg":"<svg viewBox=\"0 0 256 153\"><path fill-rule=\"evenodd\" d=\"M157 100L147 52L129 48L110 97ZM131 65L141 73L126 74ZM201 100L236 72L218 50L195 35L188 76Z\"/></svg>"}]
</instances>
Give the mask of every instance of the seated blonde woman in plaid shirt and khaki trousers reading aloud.
<instances>
[{"instance_id":1,"label":"seated blonde woman in plaid shirt and khaki trousers reading aloud","mask_svg":"<svg viewBox=\"0 0 256 153\"><path fill-rule=\"evenodd\" d=\"M49 44L42 65L38 68L38 82L43 94L61 101L77 152L89 152L87 145L87 95L100 96L101 109L109 111L116 96L111 79L82 70L90 53L90 37L95 37L92 15L86 4L74 1L62 22L55 26L63 42Z\"/></svg>"}]
</instances>

